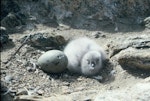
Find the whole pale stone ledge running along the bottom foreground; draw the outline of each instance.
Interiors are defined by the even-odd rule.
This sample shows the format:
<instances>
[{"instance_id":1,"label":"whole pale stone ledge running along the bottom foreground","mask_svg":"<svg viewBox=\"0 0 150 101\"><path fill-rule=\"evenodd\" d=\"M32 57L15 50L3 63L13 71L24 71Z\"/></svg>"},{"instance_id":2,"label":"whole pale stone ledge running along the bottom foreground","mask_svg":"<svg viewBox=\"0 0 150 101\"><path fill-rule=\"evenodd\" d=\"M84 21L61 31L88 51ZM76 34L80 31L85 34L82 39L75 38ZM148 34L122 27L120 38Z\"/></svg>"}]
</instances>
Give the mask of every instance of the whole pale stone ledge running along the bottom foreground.
<instances>
[{"instance_id":1,"label":"whole pale stone ledge running along the bottom foreground","mask_svg":"<svg viewBox=\"0 0 150 101\"><path fill-rule=\"evenodd\" d=\"M150 99L150 82L137 83L134 86L118 90L87 90L51 97L17 96L15 101L148 101ZM98 94L98 95L97 95Z\"/></svg>"}]
</instances>

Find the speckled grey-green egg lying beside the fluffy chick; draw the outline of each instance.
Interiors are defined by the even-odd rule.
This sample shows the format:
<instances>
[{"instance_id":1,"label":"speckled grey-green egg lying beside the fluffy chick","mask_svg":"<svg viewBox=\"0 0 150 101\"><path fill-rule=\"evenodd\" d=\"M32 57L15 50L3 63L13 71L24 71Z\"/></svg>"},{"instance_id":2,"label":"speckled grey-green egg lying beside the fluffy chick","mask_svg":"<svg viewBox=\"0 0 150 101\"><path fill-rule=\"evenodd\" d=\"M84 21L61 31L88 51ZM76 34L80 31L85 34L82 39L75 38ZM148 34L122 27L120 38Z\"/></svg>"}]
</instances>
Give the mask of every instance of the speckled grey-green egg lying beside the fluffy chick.
<instances>
[{"instance_id":1,"label":"speckled grey-green egg lying beside the fluffy chick","mask_svg":"<svg viewBox=\"0 0 150 101\"><path fill-rule=\"evenodd\" d=\"M59 50L47 51L38 59L38 65L47 73L63 72L67 68L67 64L67 56Z\"/></svg>"}]
</instances>

